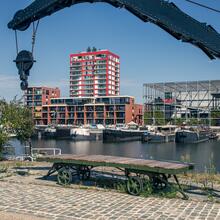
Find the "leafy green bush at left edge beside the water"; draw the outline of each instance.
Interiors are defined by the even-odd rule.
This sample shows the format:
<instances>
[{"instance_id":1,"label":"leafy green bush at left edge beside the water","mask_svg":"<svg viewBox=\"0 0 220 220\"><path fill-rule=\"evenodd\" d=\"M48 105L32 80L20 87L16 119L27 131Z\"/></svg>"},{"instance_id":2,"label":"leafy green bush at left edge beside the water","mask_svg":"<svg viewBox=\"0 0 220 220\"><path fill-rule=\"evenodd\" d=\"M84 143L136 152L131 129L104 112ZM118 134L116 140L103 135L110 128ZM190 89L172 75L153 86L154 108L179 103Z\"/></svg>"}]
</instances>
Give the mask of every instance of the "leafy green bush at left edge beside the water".
<instances>
[{"instance_id":1,"label":"leafy green bush at left edge beside the water","mask_svg":"<svg viewBox=\"0 0 220 220\"><path fill-rule=\"evenodd\" d=\"M28 141L34 132L31 111L19 100L10 103L0 101L0 152L7 143L10 134L15 134L21 143Z\"/></svg>"}]
</instances>

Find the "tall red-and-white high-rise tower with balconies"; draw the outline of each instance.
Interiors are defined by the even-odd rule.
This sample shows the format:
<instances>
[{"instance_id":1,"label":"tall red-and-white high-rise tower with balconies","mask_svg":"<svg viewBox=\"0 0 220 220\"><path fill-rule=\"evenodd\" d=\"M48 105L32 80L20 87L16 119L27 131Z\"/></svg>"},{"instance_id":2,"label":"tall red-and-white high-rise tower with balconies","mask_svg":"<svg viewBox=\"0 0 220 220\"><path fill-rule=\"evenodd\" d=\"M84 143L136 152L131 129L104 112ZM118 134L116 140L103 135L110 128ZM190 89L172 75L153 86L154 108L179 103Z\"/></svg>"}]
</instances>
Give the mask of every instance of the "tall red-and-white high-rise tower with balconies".
<instances>
[{"instance_id":1,"label":"tall red-and-white high-rise tower with balconies","mask_svg":"<svg viewBox=\"0 0 220 220\"><path fill-rule=\"evenodd\" d=\"M70 97L120 95L120 58L109 50L70 55Z\"/></svg>"}]
</instances>

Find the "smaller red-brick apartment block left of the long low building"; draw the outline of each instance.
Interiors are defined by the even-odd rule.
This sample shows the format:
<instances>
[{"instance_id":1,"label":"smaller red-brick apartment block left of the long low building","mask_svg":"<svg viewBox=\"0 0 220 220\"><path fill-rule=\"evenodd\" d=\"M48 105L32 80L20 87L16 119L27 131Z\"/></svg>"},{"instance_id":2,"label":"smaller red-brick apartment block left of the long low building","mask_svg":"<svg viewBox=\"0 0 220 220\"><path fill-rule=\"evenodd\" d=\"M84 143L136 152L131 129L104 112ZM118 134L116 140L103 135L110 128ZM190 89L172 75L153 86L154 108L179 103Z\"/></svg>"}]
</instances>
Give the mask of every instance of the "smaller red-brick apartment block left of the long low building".
<instances>
[{"instance_id":1,"label":"smaller red-brick apartment block left of the long low building","mask_svg":"<svg viewBox=\"0 0 220 220\"><path fill-rule=\"evenodd\" d=\"M25 105L31 108L35 124L41 124L42 106L50 105L51 98L59 98L59 88L49 88L44 86L29 87L25 91Z\"/></svg>"}]
</instances>

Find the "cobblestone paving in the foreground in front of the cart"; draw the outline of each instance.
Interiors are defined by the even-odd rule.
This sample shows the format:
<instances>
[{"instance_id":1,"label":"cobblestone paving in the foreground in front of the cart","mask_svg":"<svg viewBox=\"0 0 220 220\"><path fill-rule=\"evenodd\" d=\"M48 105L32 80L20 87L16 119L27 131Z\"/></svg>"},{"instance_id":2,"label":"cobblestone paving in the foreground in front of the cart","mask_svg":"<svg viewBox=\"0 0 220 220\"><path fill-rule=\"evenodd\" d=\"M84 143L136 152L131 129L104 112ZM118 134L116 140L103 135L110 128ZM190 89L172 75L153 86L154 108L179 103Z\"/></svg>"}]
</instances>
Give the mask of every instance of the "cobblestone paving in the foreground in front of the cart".
<instances>
[{"instance_id":1,"label":"cobblestone paving in the foreground in front of the cart","mask_svg":"<svg viewBox=\"0 0 220 220\"><path fill-rule=\"evenodd\" d=\"M75 184L61 187L55 181L43 180L45 172L42 168L28 176L1 179L0 219L220 219L219 203L134 197ZM9 218L3 218L3 213Z\"/></svg>"}]
</instances>

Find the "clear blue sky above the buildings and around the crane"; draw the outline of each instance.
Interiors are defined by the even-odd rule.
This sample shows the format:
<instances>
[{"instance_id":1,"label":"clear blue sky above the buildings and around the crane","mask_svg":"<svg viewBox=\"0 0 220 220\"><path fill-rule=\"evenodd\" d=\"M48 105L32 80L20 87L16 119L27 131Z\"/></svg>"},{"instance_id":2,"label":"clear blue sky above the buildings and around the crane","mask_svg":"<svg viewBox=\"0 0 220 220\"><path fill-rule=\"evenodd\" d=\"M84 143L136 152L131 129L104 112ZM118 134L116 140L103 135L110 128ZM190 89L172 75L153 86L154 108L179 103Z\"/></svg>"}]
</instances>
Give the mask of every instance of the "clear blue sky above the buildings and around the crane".
<instances>
[{"instance_id":1,"label":"clear blue sky above the buildings and around the crane","mask_svg":"<svg viewBox=\"0 0 220 220\"><path fill-rule=\"evenodd\" d=\"M220 10L219 0L197 0ZM30 0L0 1L0 98L22 96L14 32L7 23ZM173 0L195 19L220 32L220 14ZM18 32L19 50L31 50L31 29ZM40 21L30 86L59 87L69 96L69 55L88 46L109 49L121 59L121 95L142 103L143 83L220 79L220 60L210 61L198 48L177 41L159 27L144 23L125 9L105 3L84 3L61 10Z\"/></svg>"}]
</instances>

